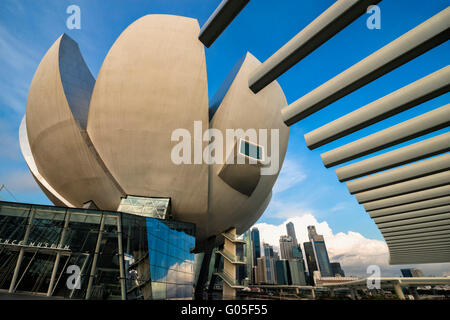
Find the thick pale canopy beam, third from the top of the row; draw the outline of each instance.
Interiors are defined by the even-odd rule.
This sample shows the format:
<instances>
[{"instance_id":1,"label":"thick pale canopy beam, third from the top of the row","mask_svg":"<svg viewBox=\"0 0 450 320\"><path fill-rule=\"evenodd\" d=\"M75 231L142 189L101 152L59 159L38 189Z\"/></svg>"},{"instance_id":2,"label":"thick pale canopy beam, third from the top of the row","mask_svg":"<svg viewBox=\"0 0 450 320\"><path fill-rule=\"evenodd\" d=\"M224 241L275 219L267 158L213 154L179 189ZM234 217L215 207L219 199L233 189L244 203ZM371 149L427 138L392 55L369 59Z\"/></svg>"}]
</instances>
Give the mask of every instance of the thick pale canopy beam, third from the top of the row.
<instances>
[{"instance_id":1,"label":"thick pale canopy beam, third from the top of the row","mask_svg":"<svg viewBox=\"0 0 450 320\"><path fill-rule=\"evenodd\" d=\"M450 7L392 41L282 110L287 125L305 119L334 101L394 70L449 38Z\"/></svg>"}]
</instances>

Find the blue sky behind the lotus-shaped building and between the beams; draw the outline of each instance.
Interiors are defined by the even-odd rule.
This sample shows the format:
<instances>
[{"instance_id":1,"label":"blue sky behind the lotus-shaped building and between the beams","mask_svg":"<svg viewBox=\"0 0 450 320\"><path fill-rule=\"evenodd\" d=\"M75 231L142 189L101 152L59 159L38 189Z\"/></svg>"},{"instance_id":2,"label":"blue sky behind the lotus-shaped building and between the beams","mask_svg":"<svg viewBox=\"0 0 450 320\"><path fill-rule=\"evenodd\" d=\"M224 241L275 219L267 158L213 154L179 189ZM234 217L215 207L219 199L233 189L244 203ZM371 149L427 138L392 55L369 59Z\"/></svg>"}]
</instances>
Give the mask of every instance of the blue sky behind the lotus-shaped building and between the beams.
<instances>
[{"instance_id":1,"label":"blue sky behind the lotus-shaped building and between the beams","mask_svg":"<svg viewBox=\"0 0 450 320\"><path fill-rule=\"evenodd\" d=\"M251 1L215 44L206 49L209 96L214 95L233 65L246 51L264 61L333 2ZM17 135L33 74L40 59L62 33L67 33L78 42L96 77L115 39L139 17L156 13L177 14L197 18L202 25L219 3L219 0L2 0L0 185L5 183L21 202L49 203L28 173L19 151ZM69 16L66 8L72 4L81 8L81 30L66 28ZM288 103L427 20L447 5L446 0L429 0L426 4L422 0L382 1L379 4L382 19L380 30L369 30L366 27L369 15L364 15L278 79ZM449 53L450 44L447 42L291 127L287 162L275 187L273 201L260 222L281 224L288 218L308 212L318 221L326 221L335 233L353 231L371 239L382 240L375 224L348 193L345 184L338 182L334 169L325 169L322 165L320 154L440 107L449 102L449 94L314 151L306 148L303 135L446 66ZM0 197L14 200L4 191L0 192Z\"/></svg>"}]
</instances>

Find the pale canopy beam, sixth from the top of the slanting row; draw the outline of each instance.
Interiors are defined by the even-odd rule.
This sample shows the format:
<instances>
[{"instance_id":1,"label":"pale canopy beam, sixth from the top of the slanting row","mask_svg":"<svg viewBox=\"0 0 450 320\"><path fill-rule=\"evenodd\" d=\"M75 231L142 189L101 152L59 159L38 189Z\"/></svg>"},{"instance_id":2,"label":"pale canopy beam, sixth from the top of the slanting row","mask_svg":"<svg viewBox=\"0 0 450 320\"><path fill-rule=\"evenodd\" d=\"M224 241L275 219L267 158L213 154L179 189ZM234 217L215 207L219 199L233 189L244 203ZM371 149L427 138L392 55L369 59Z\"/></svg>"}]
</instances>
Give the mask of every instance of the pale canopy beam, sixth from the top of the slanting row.
<instances>
[{"instance_id":1,"label":"pale canopy beam, sixth from the top of the slanting row","mask_svg":"<svg viewBox=\"0 0 450 320\"><path fill-rule=\"evenodd\" d=\"M432 157L450 150L450 132L338 168L339 181L345 182L403 164Z\"/></svg>"}]
</instances>

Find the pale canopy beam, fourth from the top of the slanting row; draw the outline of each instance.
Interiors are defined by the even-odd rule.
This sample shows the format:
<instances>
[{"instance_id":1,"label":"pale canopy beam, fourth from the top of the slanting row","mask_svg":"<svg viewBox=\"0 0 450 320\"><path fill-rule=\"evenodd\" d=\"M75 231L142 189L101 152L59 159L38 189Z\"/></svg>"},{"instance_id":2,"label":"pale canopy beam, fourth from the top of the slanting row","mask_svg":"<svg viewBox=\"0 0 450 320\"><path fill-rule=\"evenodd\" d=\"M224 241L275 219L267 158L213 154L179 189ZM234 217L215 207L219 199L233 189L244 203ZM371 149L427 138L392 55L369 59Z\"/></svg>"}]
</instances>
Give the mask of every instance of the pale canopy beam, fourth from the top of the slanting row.
<instances>
[{"instance_id":1,"label":"pale canopy beam, fourth from the top of the slanting row","mask_svg":"<svg viewBox=\"0 0 450 320\"><path fill-rule=\"evenodd\" d=\"M449 88L450 66L446 66L305 134L306 145L316 149L444 94Z\"/></svg>"}]
</instances>

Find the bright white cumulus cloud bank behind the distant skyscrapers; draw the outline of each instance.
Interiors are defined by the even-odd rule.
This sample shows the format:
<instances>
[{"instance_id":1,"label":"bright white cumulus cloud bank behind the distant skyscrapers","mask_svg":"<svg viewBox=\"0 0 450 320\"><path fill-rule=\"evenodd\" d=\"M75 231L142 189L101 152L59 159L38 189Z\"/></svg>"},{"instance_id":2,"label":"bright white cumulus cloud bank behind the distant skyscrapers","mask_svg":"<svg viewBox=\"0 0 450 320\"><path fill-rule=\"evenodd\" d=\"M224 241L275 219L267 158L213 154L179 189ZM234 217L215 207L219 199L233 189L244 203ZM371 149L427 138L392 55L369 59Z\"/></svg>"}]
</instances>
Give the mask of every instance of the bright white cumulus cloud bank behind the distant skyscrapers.
<instances>
[{"instance_id":1,"label":"bright white cumulus cloud bank behind the distant skyscrapers","mask_svg":"<svg viewBox=\"0 0 450 320\"><path fill-rule=\"evenodd\" d=\"M280 225L259 223L255 227L260 231L262 242L269 243L279 250L279 238L286 234L288 222L294 224L299 243L309 241L307 226L314 225L317 232L324 236L330 261L339 262L346 275L366 278L370 275L367 273L367 267L370 265L378 265L382 277L398 277L401 275L400 269L408 267L422 269L424 274L429 276L450 274L450 263L391 266L389 250L384 241L369 239L353 231L334 233L327 222L317 221L310 212L291 217Z\"/></svg>"}]
</instances>

